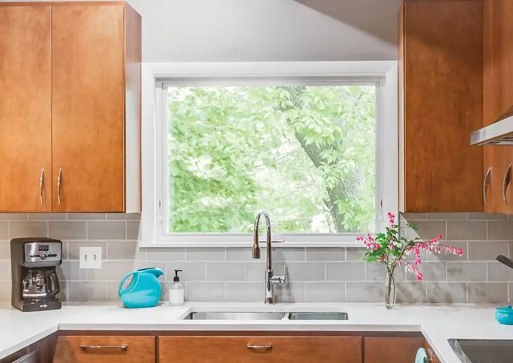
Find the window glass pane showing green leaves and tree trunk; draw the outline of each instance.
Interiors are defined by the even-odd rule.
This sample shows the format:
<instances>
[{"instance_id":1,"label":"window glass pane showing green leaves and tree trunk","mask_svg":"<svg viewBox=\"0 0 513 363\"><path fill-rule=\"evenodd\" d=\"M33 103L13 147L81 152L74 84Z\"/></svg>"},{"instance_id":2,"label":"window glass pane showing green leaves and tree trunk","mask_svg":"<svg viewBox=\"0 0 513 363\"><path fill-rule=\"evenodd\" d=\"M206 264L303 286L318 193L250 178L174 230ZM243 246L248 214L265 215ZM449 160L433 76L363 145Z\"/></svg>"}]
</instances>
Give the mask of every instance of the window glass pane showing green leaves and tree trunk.
<instances>
[{"instance_id":1,"label":"window glass pane showing green leaves and tree trunk","mask_svg":"<svg viewBox=\"0 0 513 363\"><path fill-rule=\"evenodd\" d=\"M168 88L168 232L373 231L376 85Z\"/></svg>"}]
</instances>

